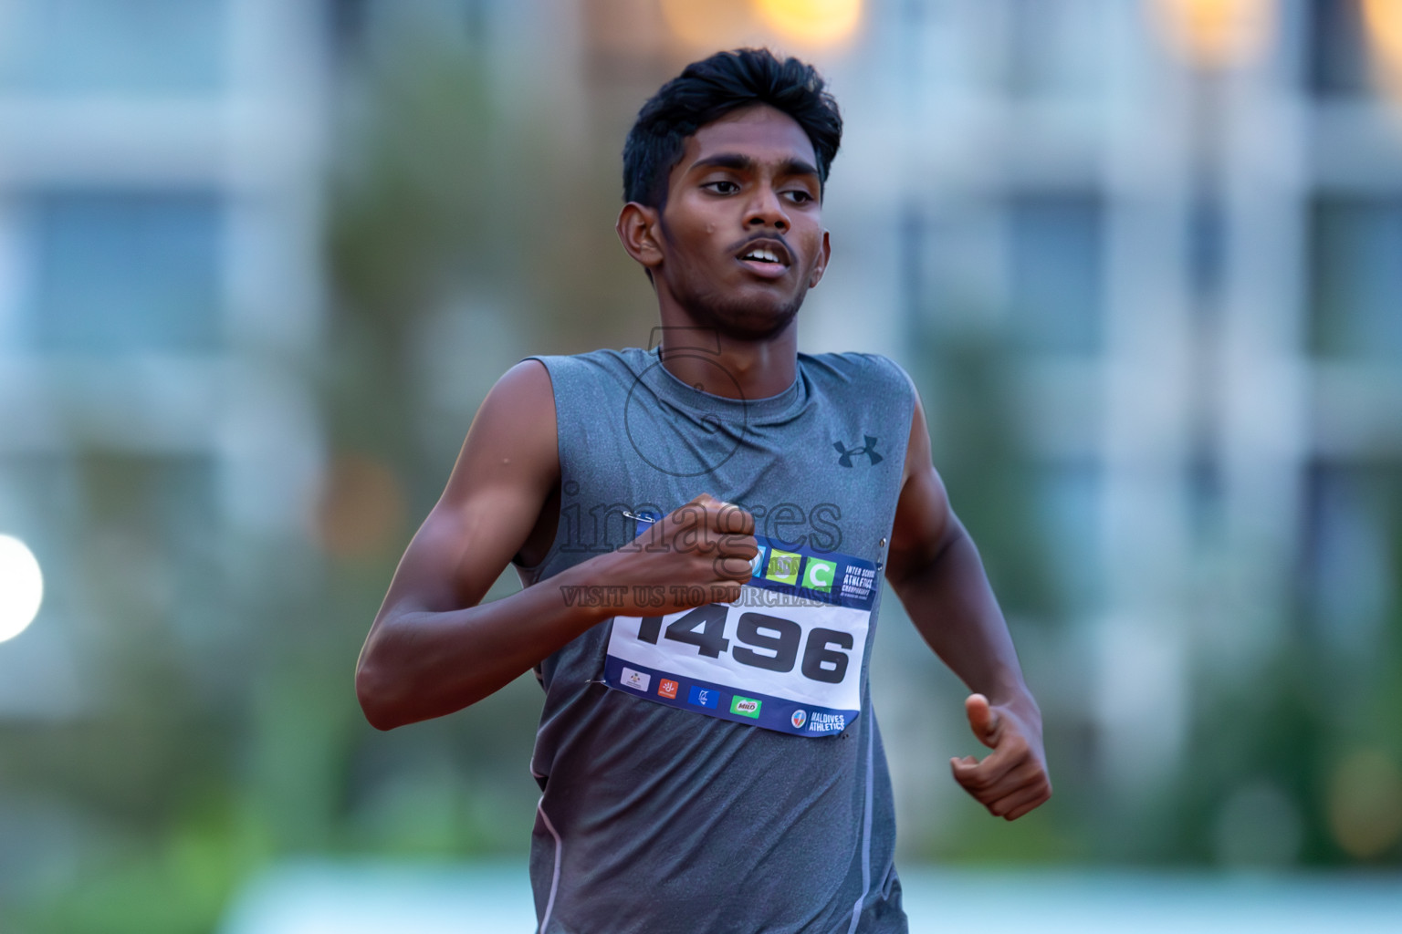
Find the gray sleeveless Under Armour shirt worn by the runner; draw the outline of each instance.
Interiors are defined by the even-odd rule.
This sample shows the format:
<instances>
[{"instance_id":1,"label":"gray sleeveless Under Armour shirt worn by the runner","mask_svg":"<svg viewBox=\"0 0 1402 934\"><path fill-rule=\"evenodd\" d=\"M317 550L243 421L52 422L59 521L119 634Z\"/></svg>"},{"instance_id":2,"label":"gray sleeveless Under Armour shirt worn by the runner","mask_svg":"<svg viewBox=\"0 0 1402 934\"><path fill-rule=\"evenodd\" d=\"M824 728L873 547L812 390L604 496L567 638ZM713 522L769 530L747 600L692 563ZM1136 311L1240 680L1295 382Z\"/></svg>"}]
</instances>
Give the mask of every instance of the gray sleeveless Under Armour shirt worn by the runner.
<instances>
[{"instance_id":1,"label":"gray sleeveless Under Armour shirt worn by the runner","mask_svg":"<svg viewBox=\"0 0 1402 934\"><path fill-rule=\"evenodd\" d=\"M728 378L714 356L694 356ZM610 688L614 620L540 665L531 773L544 794L530 857L540 930L906 931L866 661L910 434L908 379L885 357L799 354L788 391L742 400L683 384L656 351L538 360L554 385L562 500L548 556L520 571L527 585L631 542L639 527L625 511L660 515L700 493L750 510L775 549L878 569L858 646L859 716L845 728L838 720L840 732L763 728L739 696L722 696L719 714L688 709L686 683L670 706L655 702L666 685L674 696L674 682L644 682L663 685L651 696ZM740 716L721 718L726 704Z\"/></svg>"}]
</instances>

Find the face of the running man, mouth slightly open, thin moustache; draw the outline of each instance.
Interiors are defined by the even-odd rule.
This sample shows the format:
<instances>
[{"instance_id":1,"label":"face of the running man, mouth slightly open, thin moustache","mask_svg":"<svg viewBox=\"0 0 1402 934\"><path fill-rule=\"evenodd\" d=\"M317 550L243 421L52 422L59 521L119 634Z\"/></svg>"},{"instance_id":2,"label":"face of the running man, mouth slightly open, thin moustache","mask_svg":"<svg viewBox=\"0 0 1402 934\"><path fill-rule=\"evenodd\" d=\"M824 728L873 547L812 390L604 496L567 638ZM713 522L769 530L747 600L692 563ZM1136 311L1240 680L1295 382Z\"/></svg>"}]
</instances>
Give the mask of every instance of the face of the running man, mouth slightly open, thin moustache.
<instances>
[{"instance_id":1,"label":"face of the running man, mouth slightly open, thin moustache","mask_svg":"<svg viewBox=\"0 0 1402 934\"><path fill-rule=\"evenodd\" d=\"M827 266L816 167L803 129L770 106L697 130L667 181L659 293L736 337L787 328Z\"/></svg>"}]
</instances>

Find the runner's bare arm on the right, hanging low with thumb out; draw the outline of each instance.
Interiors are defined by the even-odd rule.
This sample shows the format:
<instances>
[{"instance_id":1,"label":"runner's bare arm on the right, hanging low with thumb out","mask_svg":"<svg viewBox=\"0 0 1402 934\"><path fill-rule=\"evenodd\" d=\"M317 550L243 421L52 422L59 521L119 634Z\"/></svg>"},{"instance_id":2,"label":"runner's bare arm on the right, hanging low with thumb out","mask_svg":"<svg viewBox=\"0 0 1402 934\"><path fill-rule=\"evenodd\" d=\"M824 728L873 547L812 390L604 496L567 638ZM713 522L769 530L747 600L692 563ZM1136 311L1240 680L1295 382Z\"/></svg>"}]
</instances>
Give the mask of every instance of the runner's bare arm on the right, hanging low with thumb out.
<instances>
[{"instance_id":1,"label":"runner's bare arm on the right, hanging low with thumb out","mask_svg":"<svg viewBox=\"0 0 1402 934\"><path fill-rule=\"evenodd\" d=\"M979 550L931 463L918 398L886 578L924 640L974 692L965 702L969 723L994 752L981 763L953 759L955 779L994 815L1012 821L1032 811L1052 795L1042 711L1022 679Z\"/></svg>"}]
</instances>

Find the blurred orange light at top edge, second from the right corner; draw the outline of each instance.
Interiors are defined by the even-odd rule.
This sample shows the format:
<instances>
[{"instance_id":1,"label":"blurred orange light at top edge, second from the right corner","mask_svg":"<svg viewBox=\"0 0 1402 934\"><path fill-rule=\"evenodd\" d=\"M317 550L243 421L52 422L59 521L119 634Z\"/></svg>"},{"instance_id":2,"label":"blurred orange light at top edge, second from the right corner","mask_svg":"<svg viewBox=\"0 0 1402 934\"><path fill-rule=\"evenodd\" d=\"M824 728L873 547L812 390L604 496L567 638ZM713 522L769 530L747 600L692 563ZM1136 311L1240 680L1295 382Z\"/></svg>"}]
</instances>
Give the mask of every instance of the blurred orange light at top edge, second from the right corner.
<instances>
[{"instance_id":1,"label":"blurred orange light at top edge, second from the right corner","mask_svg":"<svg viewBox=\"0 0 1402 934\"><path fill-rule=\"evenodd\" d=\"M1253 62L1274 34L1276 0L1155 0L1169 45L1202 69Z\"/></svg>"}]
</instances>

